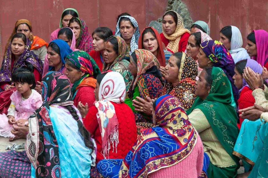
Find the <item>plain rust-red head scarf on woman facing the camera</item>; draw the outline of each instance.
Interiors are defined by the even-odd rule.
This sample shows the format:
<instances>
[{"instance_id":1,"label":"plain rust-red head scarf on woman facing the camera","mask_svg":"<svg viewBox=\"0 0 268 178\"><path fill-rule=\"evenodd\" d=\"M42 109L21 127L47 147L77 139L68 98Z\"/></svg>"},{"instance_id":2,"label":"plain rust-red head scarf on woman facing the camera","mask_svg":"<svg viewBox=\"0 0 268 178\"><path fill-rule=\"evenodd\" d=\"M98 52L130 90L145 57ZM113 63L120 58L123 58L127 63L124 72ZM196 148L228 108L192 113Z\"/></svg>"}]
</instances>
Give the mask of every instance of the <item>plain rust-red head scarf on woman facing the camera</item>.
<instances>
[{"instance_id":1,"label":"plain rust-red head scarf on woman facing the camera","mask_svg":"<svg viewBox=\"0 0 268 178\"><path fill-rule=\"evenodd\" d=\"M157 43L158 43L158 52L157 52L156 58L159 61L160 65L165 67L166 66L166 60L165 60L165 54L164 54L164 50L163 50L163 43L162 43L161 37L160 37L158 31L156 29L154 29L153 27L145 27L142 30L142 33L147 28L150 28L150 29L152 29L154 31L154 34L156 36L156 40L157 40ZM142 36L140 36L139 41L138 41L138 49L144 49Z\"/></svg>"}]
</instances>

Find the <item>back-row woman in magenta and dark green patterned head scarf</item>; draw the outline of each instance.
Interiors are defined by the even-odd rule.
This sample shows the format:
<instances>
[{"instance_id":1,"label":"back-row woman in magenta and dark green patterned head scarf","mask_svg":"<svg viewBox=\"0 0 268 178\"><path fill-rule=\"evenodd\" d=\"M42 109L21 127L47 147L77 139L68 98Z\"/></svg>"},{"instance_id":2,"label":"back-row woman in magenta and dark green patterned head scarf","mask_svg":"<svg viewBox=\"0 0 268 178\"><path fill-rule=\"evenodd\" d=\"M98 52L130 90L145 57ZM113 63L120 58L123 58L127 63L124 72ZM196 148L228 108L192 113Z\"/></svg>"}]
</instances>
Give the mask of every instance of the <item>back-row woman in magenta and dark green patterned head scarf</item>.
<instances>
[{"instance_id":1,"label":"back-row woman in magenta and dark green patterned head scarf","mask_svg":"<svg viewBox=\"0 0 268 178\"><path fill-rule=\"evenodd\" d=\"M72 17L69 21L68 27L73 30L75 34L75 47L79 50L89 53L93 50L92 37L87 30L86 22L78 17Z\"/></svg>"}]
</instances>

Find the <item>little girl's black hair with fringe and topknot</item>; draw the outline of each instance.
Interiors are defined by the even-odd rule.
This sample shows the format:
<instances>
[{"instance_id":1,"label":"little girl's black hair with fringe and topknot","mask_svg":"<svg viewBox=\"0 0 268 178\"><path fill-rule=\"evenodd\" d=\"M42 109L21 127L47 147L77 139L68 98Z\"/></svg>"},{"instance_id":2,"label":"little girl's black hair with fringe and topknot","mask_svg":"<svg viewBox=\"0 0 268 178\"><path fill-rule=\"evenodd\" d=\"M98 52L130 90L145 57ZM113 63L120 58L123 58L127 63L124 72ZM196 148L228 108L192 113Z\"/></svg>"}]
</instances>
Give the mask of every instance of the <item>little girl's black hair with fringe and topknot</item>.
<instances>
[{"instance_id":1,"label":"little girl's black hair with fringe and topknot","mask_svg":"<svg viewBox=\"0 0 268 178\"><path fill-rule=\"evenodd\" d=\"M24 61L24 65L20 66L16 71L12 73L12 81L33 84L31 86L31 89L34 89L36 87L34 66L31 63Z\"/></svg>"}]
</instances>

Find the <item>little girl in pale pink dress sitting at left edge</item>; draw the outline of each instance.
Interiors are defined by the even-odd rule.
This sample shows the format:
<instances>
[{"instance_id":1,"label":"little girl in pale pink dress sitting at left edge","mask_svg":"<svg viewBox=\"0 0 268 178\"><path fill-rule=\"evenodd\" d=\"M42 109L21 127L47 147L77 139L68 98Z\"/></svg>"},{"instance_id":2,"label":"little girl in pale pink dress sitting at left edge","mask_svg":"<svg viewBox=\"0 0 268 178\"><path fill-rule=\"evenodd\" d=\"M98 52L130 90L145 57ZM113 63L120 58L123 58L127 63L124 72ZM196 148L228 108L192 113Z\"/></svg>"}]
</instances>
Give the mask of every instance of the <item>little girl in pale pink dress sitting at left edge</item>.
<instances>
[{"instance_id":1,"label":"little girl in pale pink dress sitting at left edge","mask_svg":"<svg viewBox=\"0 0 268 178\"><path fill-rule=\"evenodd\" d=\"M0 114L0 136L9 137L9 141L20 139L10 132L12 125L25 124L28 117L43 103L41 95L34 90L36 83L33 71L33 65L25 62L25 66L12 74L17 91L10 96L8 114Z\"/></svg>"}]
</instances>

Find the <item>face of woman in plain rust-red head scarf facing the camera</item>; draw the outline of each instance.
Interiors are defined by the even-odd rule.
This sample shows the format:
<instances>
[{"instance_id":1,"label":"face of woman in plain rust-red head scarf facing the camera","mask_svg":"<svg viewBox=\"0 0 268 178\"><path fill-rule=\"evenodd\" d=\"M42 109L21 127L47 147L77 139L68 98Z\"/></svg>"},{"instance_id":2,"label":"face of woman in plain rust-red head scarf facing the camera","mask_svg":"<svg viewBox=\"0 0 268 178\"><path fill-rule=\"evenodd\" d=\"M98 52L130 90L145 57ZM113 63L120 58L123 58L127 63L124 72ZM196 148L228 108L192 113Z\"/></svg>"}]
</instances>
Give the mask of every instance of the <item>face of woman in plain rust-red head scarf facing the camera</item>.
<instances>
[{"instance_id":1,"label":"face of woman in plain rust-red head scarf facing the camera","mask_svg":"<svg viewBox=\"0 0 268 178\"><path fill-rule=\"evenodd\" d=\"M153 54L158 49L157 39L150 32L143 35L142 43L143 43L144 50L148 50Z\"/></svg>"}]
</instances>

